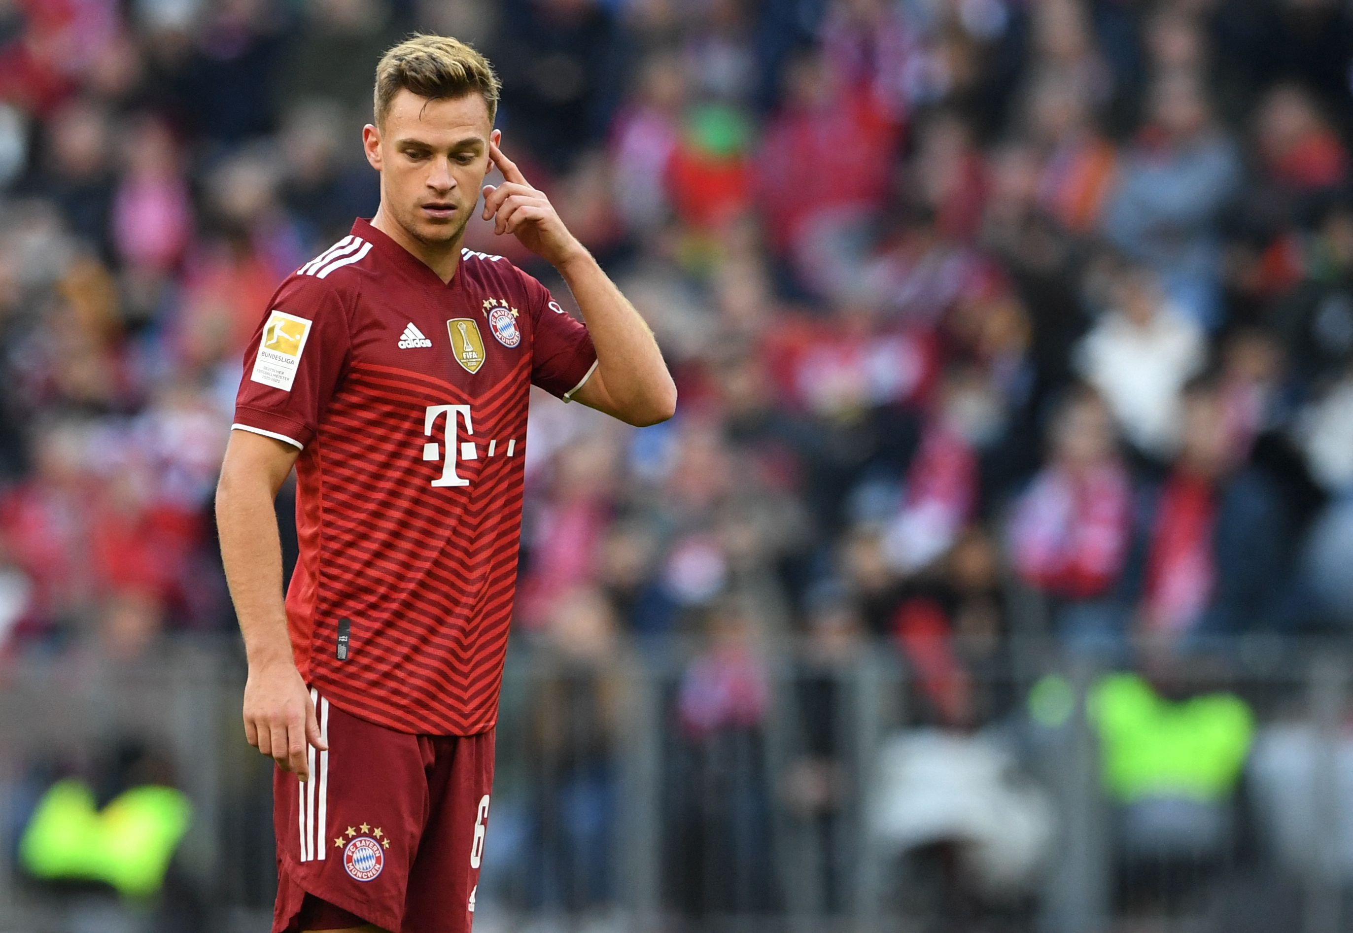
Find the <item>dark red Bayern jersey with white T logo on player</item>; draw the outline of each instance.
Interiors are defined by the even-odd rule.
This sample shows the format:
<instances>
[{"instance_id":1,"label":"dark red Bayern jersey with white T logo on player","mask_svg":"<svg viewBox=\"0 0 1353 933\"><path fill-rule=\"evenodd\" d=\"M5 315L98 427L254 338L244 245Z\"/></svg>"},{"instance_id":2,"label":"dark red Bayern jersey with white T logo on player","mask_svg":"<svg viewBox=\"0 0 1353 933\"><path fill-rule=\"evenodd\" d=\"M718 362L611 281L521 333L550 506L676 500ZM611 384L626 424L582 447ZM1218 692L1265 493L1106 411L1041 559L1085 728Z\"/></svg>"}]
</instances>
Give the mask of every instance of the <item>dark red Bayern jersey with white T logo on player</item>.
<instances>
[{"instance_id":1,"label":"dark red Bayern jersey with white T logo on player","mask_svg":"<svg viewBox=\"0 0 1353 933\"><path fill-rule=\"evenodd\" d=\"M595 365L507 260L464 250L442 283L365 220L281 284L234 427L300 448L287 622L307 684L403 732L497 722L530 385L567 402Z\"/></svg>"}]
</instances>

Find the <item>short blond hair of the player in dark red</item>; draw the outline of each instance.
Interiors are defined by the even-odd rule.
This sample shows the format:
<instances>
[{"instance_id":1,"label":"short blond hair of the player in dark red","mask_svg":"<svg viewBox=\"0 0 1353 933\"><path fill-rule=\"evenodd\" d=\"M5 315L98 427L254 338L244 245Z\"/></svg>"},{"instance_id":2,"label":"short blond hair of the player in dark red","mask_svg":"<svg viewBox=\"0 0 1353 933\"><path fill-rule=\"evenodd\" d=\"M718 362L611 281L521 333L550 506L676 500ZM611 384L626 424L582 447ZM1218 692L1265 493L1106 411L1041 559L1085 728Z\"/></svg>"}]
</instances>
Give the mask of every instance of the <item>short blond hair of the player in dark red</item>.
<instances>
[{"instance_id":1,"label":"short blond hair of the player in dark red","mask_svg":"<svg viewBox=\"0 0 1353 933\"><path fill-rule=\"evenodd\" d=\"M432 99L478 93L492 122L501 88L492 65L471 46L449 35L417 34L386 51L376 65L376 126L400 91Z\"/></svg>"}]
</instances>

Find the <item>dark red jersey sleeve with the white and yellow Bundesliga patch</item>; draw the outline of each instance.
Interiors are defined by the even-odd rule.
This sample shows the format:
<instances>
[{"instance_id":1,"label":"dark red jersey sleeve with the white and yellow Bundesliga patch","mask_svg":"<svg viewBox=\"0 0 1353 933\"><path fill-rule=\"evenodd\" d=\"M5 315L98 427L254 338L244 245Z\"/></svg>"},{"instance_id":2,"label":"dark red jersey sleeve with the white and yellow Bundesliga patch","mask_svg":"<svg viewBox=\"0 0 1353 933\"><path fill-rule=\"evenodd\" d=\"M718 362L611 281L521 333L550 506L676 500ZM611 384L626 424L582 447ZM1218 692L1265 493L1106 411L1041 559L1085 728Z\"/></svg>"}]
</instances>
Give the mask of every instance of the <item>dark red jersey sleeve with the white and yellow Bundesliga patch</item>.
<instances>
[{"instance_id":1,"label":"dark red jersey sleeve with the white and yellow Bundesliga patch","mask_svg":"<svg viewBox=\"0 0 1353 933\"><path fill-rule=\"evenodd\" d=\"M245 350L231 427L304 448L350 349L342 295L314 279L284 283Z\"/></svg>"}]
</instances>

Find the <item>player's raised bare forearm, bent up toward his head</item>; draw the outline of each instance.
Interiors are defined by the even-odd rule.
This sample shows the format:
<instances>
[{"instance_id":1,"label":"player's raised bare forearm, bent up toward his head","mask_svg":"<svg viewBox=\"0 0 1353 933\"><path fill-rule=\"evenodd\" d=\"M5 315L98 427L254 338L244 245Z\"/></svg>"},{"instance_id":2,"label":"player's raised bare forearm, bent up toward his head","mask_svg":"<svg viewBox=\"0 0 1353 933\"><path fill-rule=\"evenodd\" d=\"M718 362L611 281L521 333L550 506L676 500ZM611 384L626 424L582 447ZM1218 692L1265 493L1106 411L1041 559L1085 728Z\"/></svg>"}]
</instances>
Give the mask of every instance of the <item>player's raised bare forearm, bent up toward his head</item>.
<instances>
[{"instance_id":1,"label":"player's raised bare forearm, bent up toward his head","mask_svg":"<svg viewBox=\"0 0 1353 933\"><path fill-rule=\"evenodd\" d=\"M635 306L586 250L561 262L559 273L578 300L597 348L597 368L605 373L606 389L624 419L656 425L671 418L676 384Z\"/></svg>"}]
</instances>

